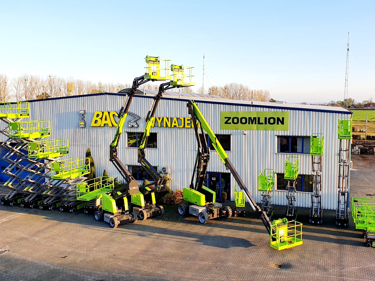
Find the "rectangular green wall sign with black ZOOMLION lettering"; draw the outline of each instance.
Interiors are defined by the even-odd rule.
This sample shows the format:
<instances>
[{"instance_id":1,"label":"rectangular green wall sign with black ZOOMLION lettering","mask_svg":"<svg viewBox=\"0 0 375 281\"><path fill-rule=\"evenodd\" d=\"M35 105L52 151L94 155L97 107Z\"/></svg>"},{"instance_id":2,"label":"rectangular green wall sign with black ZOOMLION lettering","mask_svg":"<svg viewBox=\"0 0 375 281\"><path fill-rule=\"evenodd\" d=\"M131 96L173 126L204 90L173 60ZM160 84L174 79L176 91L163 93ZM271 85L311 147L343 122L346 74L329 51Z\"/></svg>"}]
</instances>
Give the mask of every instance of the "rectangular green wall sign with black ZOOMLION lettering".
<instances>
[{"instance_id":1,"label":"rectangular green wall sign with black ZOOMLION lettering","mask_svg":"<svg viewBox=\"0 0 375 281\"><path fill-rule=\"evenodd\" d=\"M220 129L288 131L289 111L222 111Z\"/></svg>"}]
</instances>

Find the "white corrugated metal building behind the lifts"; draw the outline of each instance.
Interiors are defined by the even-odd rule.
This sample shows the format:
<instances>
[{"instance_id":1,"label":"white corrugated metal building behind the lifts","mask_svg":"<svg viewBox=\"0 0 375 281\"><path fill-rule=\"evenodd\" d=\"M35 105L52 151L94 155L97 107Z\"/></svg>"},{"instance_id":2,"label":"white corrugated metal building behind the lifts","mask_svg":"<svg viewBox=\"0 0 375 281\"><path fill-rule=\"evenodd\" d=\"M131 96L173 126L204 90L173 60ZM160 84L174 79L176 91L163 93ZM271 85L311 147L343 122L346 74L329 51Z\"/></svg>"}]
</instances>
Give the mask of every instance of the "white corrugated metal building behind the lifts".
<instances>
[{"instance_id":1,"label":"white corrugated metal building behind the lifts","mask_svg":"<svg viewBox=\"0 0 375 281\"><path fill-rule=\"evenodd\" d=\"M124 126L126 133L121 136L118 146L121 161L128 165L129 170L138 180L147 175L136 167L138 166L136 143L137 138L141 138L142 134L135 133L143 132L144 117L155 94L156 91L145 90L139 91L134 97ZM150 136L148 141L150 148L145 150L148 161L159 170L162 167L170 167L172 190L188 187L193 173L197 145L186 104L189 99L194 99L214 133L220 135L222 145L228 150L229 159L257 202L261 200L261 194L257 191L258 174L268 168L275 169L277 173L273 203L275 205L287 203L284 191L286 183L282 175L284 161L288 156L298 156L299 173L302 176L298 179L296 206L311 206L312 179L309 175L312 175L312 164L309 155L309 137L312 133L323 133L322 206L324 209L336 209L339 161L338 118L351 117L350 111L328 106L270 102L252 104L249 101L228 100L209 95L204 95L203 98L196 94L186 96L189 95L168 92L163 94L163 99L156 110L155 125L151 128L151 133L156 135ZM70 153L65 158L84 156L87 147L90 147L95 160L96 175L102 175L103 170L106 169L108 175L116 177L120 175L109 161L109 146L116 130L115 123L118 120L116 112L119 111L124 99L124 94L101 93L35 100L30 102L29 120L50 120L50 138L69 139ZM80 127L82 110L85 111L86 127ZM243 130L242 126L240 130L223 130L220 129L222 126L220 112L266 112L271 115L272 112L287 112L286 119L289 122L287 122L287 130ZM131 120L138 117L140 117L138 120ZM132 127L128 128L127 124ZM208 171L208 187L217 191L219 199L220 191L227 191L228 199L234 200L236 182L213 149L211 149Z\"/></svg>"}]
</instances>

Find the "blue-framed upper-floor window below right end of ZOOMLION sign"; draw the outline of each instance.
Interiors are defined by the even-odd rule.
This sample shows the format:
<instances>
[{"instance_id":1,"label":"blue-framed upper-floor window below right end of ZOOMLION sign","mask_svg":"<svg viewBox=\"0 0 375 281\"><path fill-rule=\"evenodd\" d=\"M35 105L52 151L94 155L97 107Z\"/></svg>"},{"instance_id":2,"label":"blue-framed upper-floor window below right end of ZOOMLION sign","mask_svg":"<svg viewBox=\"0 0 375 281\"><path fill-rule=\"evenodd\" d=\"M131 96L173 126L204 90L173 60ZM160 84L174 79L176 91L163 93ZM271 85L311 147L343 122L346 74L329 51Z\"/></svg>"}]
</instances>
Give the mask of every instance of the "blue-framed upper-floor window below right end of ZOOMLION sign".
<instances>
[{"instance_id":1,"label":"blue-framed upper-floor window below right end of ZOOMLION sign","mask_svg":"<svg viewBox=\"0 0 375 281\"><path fill-rule=\"evenodd\" d=\"M310 154L310 137L278 136L278 152Z\"/></svg>"}]
</instances>

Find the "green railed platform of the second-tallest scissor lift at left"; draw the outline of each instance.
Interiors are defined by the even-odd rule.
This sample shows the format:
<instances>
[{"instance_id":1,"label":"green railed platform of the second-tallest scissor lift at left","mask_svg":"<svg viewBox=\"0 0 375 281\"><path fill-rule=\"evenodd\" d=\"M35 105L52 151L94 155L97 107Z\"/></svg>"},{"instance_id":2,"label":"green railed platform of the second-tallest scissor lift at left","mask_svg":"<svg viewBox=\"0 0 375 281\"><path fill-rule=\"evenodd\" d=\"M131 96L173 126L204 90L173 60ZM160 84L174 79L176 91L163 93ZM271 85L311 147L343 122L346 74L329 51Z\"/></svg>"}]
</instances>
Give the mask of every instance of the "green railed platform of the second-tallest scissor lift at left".
<instances>
[{"instance_id":1,"label":"green railed platform of the second-tallest scissor lift at left","mask_svg":"<svg viewBox=\"0 0 375 281\"><path fill-rule=\"evenodd\" d=\"M51 136L49 121L19 121L9 123L9 138L37 139Z\"/></svg>"}]
</instances>

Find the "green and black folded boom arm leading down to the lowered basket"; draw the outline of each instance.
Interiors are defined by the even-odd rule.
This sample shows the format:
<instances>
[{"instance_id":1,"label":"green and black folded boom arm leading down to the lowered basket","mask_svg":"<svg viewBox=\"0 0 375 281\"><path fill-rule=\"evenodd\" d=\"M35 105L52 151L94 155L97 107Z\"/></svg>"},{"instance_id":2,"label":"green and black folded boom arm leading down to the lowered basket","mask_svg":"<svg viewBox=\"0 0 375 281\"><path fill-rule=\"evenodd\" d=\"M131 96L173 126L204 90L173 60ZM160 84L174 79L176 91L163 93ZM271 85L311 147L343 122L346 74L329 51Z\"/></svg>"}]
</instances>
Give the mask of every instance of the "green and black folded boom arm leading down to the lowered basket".
<instances>
[{"instance_id":1,"label":"green and black folded boom arm leading down to the lowered basket","mask_svg":"<svg viewBox=\"0 0 375 281\"><path fill-rule=\"evenodd\" d=\"M189 114L191 114L191 116L192 116L192 121L194 122L193 124L194 124L196 134L198 132L198 129L196 128L195 120L198 120L198 122L201 124L202 132L203 132L203 130L205 130L205 132L207 132L207 135L211 139L213 147L215 148L217 154L219 154L220 159L225 164L226 169L228 169L232 173L234 179L236 179L237 184L244 191L245 196L248 199L252 209L258 214L258 216L262 220L264 226L267 229L267 232L269 234L271 234L272 223L269 220L266 212L262 211L262 209L255 202L254 198L251 196L250 191L246 188L245 183L242 181L242 179L241 179L240 175L238 174L237 170L234 168L233 164L229 160L228 155L226 154L225 150L221 146L220 142L217 140L215 134L213 133L213 131L211 130L211 127L208 125L207 121L203 117L203 115L202 115L201 111L199 110L198 106L195 104L195 102L193 100L189 100L189 103L187 104L187 107L189 108ZM199 139L199 136L197 136L197 139ZM198 144L200 144L199 140L198 140ZM198 147L197 160L198 160L198 157L200 157L199 156L200 153L201 152L199 151L199 147ZM197 165L197 160L196 160L195 165ZM201 170L203 170L203 169L201 169ZM197 173L196 187L198 187L198 185L201 185L200 181L203 181L203 180L201 180L202 175L199 175L199 178L198 178L198 175L199 175L199 171ZM191 187L191 185L190 185L190 187Z\"/></svg>"}]
</instances>

